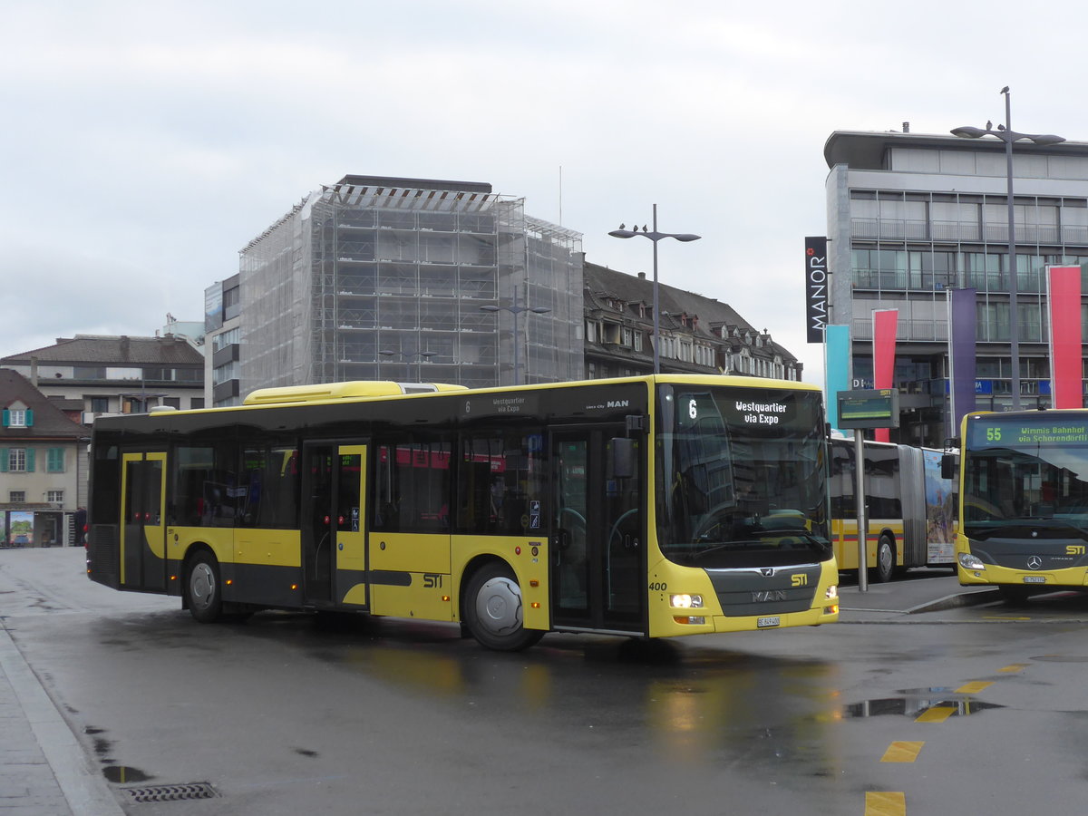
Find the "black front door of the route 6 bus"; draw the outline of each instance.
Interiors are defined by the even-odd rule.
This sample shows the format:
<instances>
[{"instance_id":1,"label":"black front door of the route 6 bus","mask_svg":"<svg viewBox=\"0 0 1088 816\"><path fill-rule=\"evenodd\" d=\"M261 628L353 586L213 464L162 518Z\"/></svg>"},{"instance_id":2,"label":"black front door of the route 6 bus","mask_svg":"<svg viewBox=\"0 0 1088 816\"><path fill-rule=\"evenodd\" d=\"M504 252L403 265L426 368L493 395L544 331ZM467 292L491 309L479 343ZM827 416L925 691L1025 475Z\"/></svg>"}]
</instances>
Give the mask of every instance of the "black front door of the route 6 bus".
<instances>
[{"instance_id":1,"label":"black front door of the route 6 bus","mask_svg":"<svg viewBox=\"0 0 1088 816\"><path fill-rule=\"evenodd\" d=\"M616 478L620 429L552 434L552 625L643 633L645 549L641 469Z\"/></svg>"}]
</instances>

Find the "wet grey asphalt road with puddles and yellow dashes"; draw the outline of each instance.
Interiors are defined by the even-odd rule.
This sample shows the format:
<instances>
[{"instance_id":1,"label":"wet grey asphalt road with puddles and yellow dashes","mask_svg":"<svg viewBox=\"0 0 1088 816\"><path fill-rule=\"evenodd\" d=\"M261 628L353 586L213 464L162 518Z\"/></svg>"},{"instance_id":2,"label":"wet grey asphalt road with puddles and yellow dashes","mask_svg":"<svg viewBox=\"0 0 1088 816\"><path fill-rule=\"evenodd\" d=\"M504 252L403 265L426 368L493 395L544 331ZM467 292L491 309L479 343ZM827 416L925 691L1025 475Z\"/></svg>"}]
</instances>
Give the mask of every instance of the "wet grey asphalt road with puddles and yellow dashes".
<instances>
[{"instance_id":1,"label":"wet grey asphalt road with puddles and yellow dashes","mask_svg":"<svg viewBox=\"0 0 1088 816\"><path fill-rule=\"evenodd\" d=\"M507 655L425 622L265 613L200 626L175 598L91 584L82 555L0 552L0 616L129 814L1023 814L1088 801L1080 597L846 611L818 629L648 646L554 634ZM935 596L959 589L934 574L912 579L943 581ZM128 793L193 782L218 796Z\"/></svg>"}]
</instances>

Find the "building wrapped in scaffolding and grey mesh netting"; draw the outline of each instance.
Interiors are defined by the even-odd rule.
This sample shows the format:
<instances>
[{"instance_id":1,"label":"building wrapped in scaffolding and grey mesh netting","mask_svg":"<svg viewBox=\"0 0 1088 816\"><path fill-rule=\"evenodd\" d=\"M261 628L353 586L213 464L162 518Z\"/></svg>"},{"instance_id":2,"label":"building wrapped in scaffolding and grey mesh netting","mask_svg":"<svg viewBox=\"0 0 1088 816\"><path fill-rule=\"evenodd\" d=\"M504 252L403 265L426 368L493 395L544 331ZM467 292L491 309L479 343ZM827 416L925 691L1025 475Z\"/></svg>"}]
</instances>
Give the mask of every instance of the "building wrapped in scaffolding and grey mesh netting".
<instances>
[{"instance_id":1,"label":"building wrapped in scaffolding and grey mesh netting","mask_svg":"<svg viewBox=\"0 0 1088 816\"><path fill-rule=\"evenodd\" d=\"M212 349L213 387L237 388L217 405L287 384L580 375L581 235L489 184L348 175L240 256L238 324L226 327L223 288L228 336Z\"/></svg>"}]
</instances>

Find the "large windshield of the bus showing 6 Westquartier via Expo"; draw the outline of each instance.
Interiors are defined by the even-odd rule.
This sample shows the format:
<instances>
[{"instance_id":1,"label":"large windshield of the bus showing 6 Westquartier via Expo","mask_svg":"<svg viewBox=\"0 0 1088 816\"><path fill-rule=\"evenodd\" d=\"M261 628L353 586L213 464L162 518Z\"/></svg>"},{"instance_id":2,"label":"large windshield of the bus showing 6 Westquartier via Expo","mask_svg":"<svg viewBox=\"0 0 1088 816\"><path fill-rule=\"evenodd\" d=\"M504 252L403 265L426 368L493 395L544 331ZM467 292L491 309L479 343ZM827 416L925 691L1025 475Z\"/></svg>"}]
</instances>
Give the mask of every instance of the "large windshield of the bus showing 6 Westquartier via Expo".
<instances>
[{"instance_id":1,"label":"large windshield of the bus showing 6 Westquartier via Expo","mask_svg":"<svg viewBox=\"0 0 1088 816\"><path fill-rule=\"evenodd\" d=\"M659 399L657 533L667 558L737 568L829 557L818 393L668 385Z\"/></svg>"}]
</instances>

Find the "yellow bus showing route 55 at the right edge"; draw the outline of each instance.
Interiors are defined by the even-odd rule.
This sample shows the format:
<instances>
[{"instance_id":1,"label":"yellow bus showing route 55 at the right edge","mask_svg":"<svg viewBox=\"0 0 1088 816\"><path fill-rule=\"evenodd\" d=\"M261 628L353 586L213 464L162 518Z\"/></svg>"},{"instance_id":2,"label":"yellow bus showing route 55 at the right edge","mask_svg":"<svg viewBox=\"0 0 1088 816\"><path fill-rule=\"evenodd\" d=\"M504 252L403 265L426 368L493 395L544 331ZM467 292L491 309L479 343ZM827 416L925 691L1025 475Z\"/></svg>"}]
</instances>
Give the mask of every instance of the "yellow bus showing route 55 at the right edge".
<instances>
[{"instance_id":1,"label":"yellow bus showing route 55 at the right edge","mask_svg":"<svg viewBox=\"0 0 1088 816\"><path fill-rule=\"evenodd\" d=\"M960 583L1014 604L1088 589L1088 410L968 413L961 430Z\"/></svg>"}]
</instances>

